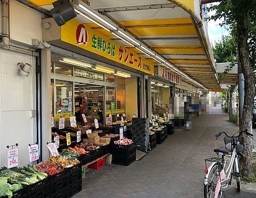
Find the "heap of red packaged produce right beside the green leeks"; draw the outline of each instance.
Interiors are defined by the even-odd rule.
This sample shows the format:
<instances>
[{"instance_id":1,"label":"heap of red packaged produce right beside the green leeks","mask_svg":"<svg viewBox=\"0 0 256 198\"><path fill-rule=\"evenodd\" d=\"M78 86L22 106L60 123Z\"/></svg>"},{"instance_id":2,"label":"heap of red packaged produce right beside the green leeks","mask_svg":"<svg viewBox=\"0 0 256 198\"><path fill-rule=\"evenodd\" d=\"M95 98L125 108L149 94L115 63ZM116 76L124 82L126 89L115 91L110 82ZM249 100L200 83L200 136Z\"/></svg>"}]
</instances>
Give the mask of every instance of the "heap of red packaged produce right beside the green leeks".
<instances>
[{"instance_id":1,"label":"heap of red packaged produce right beside the green leeks","mask_svg":"<svg viewBox=\"0 0 256 198\"><path fill-rule=\"evenodd\" d=\"M47 175L54 175L63 171L62 167L57 166L55 163L49 161L42 161L35 165L35 168L40 172L46 173Z\"/></svg>"}]
</instances>

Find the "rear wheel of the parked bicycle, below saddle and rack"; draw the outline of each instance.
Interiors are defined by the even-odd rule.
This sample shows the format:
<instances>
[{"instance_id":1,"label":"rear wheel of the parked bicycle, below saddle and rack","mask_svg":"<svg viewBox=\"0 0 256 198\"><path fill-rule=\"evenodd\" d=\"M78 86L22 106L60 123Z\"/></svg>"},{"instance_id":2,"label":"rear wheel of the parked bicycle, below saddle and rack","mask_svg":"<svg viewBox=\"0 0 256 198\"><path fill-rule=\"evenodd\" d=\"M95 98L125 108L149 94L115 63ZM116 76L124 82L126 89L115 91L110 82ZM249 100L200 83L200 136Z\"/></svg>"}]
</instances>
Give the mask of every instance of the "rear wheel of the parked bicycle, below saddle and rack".
<instances>
[{"instance_id":1,"label":"rear wheel of the parked bicycle, below saddle and rack","mask_svg":"<svg viewBox=\"0 0 256 198\"><path fill-rule=\"evenodd\" d=\"M207 185L204 185L204 198L214 198L215 189L218 183L220 171L218 164L215 164L209 172ZM218 198L222 197L222 192L219 192Z\"/></svg>"}]
</instances>

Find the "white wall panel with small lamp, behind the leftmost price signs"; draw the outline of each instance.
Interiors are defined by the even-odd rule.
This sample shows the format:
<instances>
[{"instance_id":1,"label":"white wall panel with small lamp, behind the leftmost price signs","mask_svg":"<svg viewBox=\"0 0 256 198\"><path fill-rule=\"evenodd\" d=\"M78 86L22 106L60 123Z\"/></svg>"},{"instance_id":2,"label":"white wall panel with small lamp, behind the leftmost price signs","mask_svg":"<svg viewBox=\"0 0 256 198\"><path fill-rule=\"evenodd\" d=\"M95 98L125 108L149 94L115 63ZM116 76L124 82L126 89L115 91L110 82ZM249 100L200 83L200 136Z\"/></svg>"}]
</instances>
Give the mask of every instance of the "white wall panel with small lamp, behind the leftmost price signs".
<instances>
[{"instance_id":1,"label":"white wall panel with small lamp, behind the leftmost price signs","mask_svg":"<svg viewBox=\"0 0 256 198\"><path fill-rule=\"evenodd\" d=\"M32 65L29 77L18 74L17 63ZM35 57L16 52L0 51L0 167L7 166L7 145L20 144L19 164L29 163L28 144L35 143Z\"/></svg>"}]
</instances>

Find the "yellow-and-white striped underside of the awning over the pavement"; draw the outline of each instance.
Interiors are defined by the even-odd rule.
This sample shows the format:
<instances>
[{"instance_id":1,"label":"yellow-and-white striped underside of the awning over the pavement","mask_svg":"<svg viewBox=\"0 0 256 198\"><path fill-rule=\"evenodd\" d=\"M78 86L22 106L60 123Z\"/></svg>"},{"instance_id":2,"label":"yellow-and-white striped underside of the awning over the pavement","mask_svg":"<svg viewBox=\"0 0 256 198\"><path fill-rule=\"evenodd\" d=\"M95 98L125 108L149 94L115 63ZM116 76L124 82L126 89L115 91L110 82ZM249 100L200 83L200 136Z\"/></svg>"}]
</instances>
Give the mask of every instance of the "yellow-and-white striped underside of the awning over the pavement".
<instances>
[{"instance_id":1,"label":"yellow-and-white striped underside of the awning over the pavement","mask_svg":"<svg viewBox=\"0 0 256 198\"><path fill-rule=\"evenodd\" d=\"M47 4L54 0L30 1L49 10L52 5L47 6ZM209 91L221 88L215 76L216 66L209 45L207 27L204 20L202 20L202 28L200 28L202 24L198 24L201 14L199 0L89 0L89 2L91 8L119 22ZM133 48L84 17L78 15L77 19L121 45ZM142 57L149 58L141 51L135 48L133 50ZM158 65L156 61L154 62ZM186 78L181 79L199 87Z\"/></svg>"}]
</instances>

